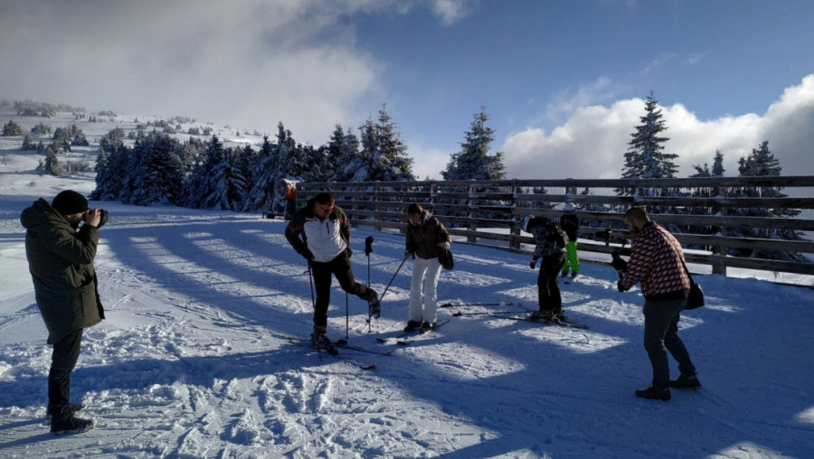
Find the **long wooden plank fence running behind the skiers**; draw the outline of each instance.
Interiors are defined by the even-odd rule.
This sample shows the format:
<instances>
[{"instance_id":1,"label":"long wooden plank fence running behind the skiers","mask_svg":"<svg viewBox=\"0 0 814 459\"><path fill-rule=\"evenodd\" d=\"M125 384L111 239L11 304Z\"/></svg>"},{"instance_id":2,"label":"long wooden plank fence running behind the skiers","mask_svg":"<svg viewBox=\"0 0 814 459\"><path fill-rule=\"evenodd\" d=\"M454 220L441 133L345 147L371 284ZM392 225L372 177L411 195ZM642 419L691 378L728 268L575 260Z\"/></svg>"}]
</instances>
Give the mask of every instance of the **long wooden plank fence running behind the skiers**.
<instances>
[{"instance_id":1,"label":"long wooden plank fence running behind the skiers","mask_svg":"<svg viewBox=\"0 0 814 459\"><path fill-rule=\"evenodd\" d=\"M686 251L687 262L710 265L714 274L725 275L727 267L739 267L814 275L814 263L807 261L727 256L730 249L814 253L812 241L771 236L778 230L814 231L814 220L806 218L814 213L810 211L814 209L812 187L814 176L299 183L298 206L317 192L328 191L353 225L403 232L407 204L419 202L453 236L525 253L530 248L521 244L534 244L534 240L521 234L520 218L524 214L557 218L563 214L563 203L573 202L581 220L580 252L608 254L620 249L626 255L632 235L622 218L630 206L639 205L647 207L651 220L667 226L685 247L699 248ZM790 197L727 197L767 188L782 189ZM796 218L729 215L734 209L799 210L801 214ZM744 227L759 228L766 237L730 235Z\"/></svg>"}]
</instances>

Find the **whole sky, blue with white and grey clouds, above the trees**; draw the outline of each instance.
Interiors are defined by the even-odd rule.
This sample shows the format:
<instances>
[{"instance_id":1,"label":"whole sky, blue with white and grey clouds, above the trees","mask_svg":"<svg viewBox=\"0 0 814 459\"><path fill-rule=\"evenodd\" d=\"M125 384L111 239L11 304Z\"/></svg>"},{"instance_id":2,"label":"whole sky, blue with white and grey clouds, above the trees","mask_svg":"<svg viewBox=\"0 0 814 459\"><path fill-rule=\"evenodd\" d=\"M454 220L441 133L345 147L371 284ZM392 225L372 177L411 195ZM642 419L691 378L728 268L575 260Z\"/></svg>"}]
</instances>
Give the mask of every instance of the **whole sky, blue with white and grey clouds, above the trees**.
<instances>
[{"instance_id":1,"label":"whole sky, blue with white and grey clouds, above the trees","mask_svg":"<svg viewBox=\"0 0 814 459\"><path fill-rule=\"evenodd\" d=\"M386 104L437 178L482 106L517 178L615 178L652 90L667 152L763 140L814 173L814 2L5 0L0 98L197 117L321 145Z\"/></svg>"}]
</instances>

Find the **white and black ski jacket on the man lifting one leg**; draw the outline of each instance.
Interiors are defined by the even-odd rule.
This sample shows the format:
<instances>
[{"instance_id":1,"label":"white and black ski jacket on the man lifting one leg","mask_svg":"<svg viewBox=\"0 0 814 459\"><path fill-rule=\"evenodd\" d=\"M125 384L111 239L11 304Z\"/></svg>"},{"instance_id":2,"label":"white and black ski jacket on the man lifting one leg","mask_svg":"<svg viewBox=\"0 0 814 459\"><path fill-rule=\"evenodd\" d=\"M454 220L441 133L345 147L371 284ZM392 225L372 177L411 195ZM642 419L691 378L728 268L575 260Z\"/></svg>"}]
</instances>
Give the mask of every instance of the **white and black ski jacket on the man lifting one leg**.
<instances>
[{"instance_id":1,"label":"white and black ski jacket on the man lifting one leg","mask_svg":"<svg viewBox=\"0 0 814 459\"><path fill-rule=\"evenodd\" d=\"M350 255L350 224L339 206L320 219L314 213L316 199L311 199L306 207L294 214L286 227L286 239L298 254L306 256L308 251L313 260L327 263L347 250Z\"/></svg>"}]
</instances>

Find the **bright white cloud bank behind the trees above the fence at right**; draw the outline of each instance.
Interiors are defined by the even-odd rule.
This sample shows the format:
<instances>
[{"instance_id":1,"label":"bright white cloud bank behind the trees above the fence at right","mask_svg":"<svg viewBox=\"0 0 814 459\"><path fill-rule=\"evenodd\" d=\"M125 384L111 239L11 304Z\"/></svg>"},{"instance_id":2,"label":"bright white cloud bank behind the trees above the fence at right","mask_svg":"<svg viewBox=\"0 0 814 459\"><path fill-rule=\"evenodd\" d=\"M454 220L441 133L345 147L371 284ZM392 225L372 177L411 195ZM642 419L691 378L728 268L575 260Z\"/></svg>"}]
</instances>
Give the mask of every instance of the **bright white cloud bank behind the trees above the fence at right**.
<instances>
[{"instance_id":1,"label":"bright white cloud bank behind the trees above the fence at right","mask_svg":"<svg viewBox=\"0 0 814 459\"><path fill-rule=\"evenodd\" d=\"M737 160L763 140L780 160L784 175L814 173L814 75L786 89L763 115L745 114L702 121L683 105L661 107L670 140L667 153L679 155L678 176L692 164L712 164L715 150L724 154L726 175L737 175ZM509 136L504 152L510 178L619 178L630 134L640 124L644 101L620 100L611 107L578 108L551 134L530 127Z\"/></svg>"}]
</instances>

